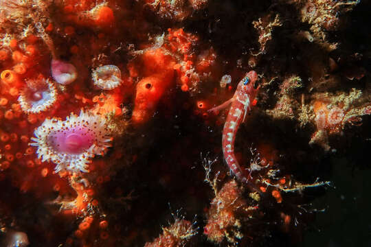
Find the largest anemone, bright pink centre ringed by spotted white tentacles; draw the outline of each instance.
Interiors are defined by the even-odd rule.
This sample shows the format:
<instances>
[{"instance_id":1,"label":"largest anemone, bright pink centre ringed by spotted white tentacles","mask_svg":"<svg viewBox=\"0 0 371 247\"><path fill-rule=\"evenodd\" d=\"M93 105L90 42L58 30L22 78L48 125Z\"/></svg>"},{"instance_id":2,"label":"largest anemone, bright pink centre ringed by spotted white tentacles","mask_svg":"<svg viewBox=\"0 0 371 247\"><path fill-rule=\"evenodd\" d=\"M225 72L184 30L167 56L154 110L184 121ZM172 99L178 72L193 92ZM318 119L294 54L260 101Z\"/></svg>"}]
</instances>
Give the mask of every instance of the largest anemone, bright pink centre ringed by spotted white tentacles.
<instances>
[{"instance_id":1,"label":"largest anemone, bright pink centre ringed by spotted white tentacles","mask_svg":"<svg viewBox=\"0 0 371 247\"><path fill-rule=\"evenodd\" d=\"M81 110L65 121L45 119L32 137L38 158L56 163L56 172L88 172L87 165L95 154L104 155L111 146L106 119Z\"/></svg>"}]
</instances>

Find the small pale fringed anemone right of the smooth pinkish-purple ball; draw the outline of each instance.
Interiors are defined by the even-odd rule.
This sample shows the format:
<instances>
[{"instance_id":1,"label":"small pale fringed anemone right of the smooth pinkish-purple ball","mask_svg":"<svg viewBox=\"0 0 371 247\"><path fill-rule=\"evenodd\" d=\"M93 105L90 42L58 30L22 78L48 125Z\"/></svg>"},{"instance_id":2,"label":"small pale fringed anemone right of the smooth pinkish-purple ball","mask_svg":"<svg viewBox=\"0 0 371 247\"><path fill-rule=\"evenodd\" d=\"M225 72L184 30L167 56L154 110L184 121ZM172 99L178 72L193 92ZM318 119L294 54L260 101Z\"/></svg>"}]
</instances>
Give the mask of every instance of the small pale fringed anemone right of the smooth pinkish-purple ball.
<instances>
[{"instance_id":1,"label":"small pale fringed anemone right of the smooth pinkish-purple ball","mask_svg":"<svg viewBox=\"0 0 371 247\"><path fill-rule=\"evenodd\" d=\"M91 78L95 86L104 90L115 89L122 83L121 71L115 65L104 65L93 69Z\"/></svg>"}]
</instances>

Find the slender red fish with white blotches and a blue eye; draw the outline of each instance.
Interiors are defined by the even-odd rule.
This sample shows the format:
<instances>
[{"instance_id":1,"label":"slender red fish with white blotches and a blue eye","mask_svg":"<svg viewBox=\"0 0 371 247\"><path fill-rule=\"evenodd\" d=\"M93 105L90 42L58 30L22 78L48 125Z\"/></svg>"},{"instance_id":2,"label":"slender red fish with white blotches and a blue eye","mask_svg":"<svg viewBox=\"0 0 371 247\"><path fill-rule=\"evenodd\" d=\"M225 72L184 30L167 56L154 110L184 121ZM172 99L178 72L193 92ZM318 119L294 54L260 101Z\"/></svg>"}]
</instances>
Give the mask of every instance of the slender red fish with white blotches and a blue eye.
<instances>
[{"instance_id":1,"label":"slender red fish with white blotches and a blue eye","mask_svg":"<svg viewBox=\"0 0 371 247\"><path fill-rule=\"evenodd\" d=\"M234 175L236 175L238 180L244 183L247 183L248 178L240 165L238 165L238 161L234 155L234 141L236 139L238 127L245 121L247 113L251 110L251 104L256 97L256 93L258 93L258 88L254 88L256 80L258 80L258 74L255 71L249 71L238 83L236 92L231 99L209 110L215 113L231 104L223 128L223 154L225 162L227 162L227 165Z\"/></svg>"}]
</instances>

